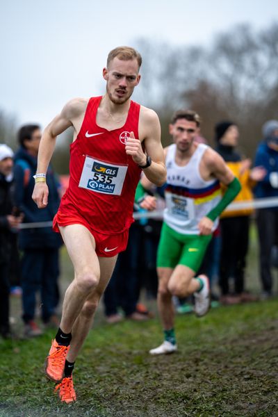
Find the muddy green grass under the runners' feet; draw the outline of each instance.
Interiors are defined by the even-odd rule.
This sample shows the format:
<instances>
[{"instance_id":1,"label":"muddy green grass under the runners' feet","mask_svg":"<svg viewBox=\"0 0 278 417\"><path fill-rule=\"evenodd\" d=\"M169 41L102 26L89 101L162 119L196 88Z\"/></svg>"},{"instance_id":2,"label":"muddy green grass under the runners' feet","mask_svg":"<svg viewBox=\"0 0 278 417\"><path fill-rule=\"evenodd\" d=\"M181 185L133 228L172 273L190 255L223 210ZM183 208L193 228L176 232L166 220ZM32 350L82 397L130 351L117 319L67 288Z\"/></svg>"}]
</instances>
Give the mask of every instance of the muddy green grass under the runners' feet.
<instances>
[{"instance_id":1,"label":"muddy green grass under the runners' feet","mask_svg":"<svg viewBox=\"0 0 278 417\"><path fill-rule=\"evenodd\" d=\"M177 317L179 352L150 357L158 320L90 332L66 406L42 372L53 336L2 341L1 417L278 416L277 300Z\"/></svg>"}]
</instances>

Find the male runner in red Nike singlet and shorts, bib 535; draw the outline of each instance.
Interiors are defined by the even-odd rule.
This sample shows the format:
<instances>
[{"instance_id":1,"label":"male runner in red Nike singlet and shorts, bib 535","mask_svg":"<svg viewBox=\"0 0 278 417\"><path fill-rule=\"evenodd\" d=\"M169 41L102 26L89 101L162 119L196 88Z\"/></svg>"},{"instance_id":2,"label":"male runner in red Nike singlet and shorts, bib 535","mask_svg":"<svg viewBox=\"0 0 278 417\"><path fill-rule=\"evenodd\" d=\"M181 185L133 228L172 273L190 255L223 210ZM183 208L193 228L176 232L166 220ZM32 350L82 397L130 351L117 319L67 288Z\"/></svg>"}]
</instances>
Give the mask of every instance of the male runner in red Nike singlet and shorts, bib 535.
<instances>
[{"instance_id":1,"label":"male runner in red Nike singlet and shorts, bib 535","mask_svg":"<svg viewBox=\"0 0 278 417\"><path fill-rule=\"evenodd\" d=\"M113 49L103 70L106 94L69 101L44 130L40 143L33 199L44 208L45 173L56 136L74 128L70 184L54 218L54 229L63 236L74 265L74 280L65 293L60 327L45 361L47 377L60 382L56 389L62 402L76 400L74 361L117 254L126 248L140 173L144 170L158 186L165 182L158 116L131 101L141 62L133 48Z\"/></svg>"}]
</instances>

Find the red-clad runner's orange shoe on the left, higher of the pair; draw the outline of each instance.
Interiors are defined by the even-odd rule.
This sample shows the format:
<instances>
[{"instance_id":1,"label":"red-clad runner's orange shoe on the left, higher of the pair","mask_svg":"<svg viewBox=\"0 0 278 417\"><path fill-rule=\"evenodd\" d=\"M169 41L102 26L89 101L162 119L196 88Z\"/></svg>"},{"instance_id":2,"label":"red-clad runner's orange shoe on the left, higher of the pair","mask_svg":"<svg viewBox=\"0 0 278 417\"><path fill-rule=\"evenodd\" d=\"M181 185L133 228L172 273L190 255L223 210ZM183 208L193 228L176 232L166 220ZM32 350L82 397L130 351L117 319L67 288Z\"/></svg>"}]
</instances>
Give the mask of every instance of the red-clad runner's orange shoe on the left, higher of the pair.
<instances>
[{"instance_id":1,"label":"red-clad runner's orange shoe on the left, higher of the pair","mask_svg":"<svg viewBox=\"0 0 278 417\"><path fill-rule=\"evenodd\" d=\"M59 345L56 340L52 341L47 359L44 361L44 369L47 378L54 382L60 382L64 376L65 358L70 346Z\"/></svg>"}]
</instances>

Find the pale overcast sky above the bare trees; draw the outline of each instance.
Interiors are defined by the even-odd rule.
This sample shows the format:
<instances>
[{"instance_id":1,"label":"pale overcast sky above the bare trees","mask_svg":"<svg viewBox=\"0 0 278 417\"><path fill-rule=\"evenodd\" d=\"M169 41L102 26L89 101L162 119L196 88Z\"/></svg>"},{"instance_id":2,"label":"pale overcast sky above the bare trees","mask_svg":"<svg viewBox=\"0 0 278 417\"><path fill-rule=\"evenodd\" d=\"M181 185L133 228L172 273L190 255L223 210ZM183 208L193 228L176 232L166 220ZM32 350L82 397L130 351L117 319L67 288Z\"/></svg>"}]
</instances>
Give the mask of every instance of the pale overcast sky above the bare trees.
<instances>
[{"instance_id":1,"label":"pale overcast sky above the bare trees","mask_svg":"<svg viewBox=\"0 0 278 417\"><path fill-rule=\"evenodd\" d=\"M275 21L275 0L0 0L0 109L44 127L69 99L104 92L114 47L138 38L205 46L235 24Z\"/></svg>"}]
</instances>

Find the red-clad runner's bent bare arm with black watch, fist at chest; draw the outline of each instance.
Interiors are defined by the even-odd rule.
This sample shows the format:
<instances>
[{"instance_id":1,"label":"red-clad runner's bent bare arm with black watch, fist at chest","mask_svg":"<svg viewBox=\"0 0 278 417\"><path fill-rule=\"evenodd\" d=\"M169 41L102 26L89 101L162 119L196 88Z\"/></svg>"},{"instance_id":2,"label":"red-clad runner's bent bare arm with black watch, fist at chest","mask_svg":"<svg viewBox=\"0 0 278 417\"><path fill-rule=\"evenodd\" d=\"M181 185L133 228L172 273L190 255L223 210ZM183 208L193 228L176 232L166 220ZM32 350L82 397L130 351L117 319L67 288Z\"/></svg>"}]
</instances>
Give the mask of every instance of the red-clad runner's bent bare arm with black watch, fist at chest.
<instances>
[{"instance_id":1,"label":"red-clad runner's bent bare arm with black watch, fist at chest","mask_svg":"<svg viewBox=\"0 0 278 417\"><path fill-rule=\"evenodd\" d=\"M139 136L145 146L145 152L152 158L152 164L145 168L147 179L156 186L162 186L166 181L163 147L161 145L161 126L156 113L141 106L139 120ZM133 133L126 141L126 154L131 155L138 165L145 165L146 154L143 152L141 141Z\"/></svg>"}]
</instances>

